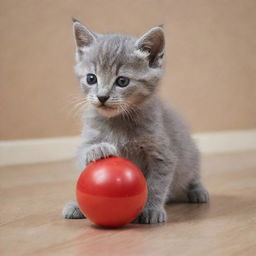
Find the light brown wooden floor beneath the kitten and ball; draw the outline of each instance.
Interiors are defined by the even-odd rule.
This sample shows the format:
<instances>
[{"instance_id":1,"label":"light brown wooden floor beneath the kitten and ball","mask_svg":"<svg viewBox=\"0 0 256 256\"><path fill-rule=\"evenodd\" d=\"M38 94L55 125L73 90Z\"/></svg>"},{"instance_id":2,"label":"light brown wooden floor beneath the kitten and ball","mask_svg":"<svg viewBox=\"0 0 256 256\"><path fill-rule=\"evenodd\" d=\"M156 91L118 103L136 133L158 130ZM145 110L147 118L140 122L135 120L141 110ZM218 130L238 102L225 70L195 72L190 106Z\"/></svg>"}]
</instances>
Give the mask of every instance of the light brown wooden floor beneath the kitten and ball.
<instances>
[{"instance_id":1,"label":"light brown wooden floor beneath the kitten and ball","mask_svg":"<svg viewBox=\"0 0 256 256\"><path fill-rule=\"evenodd\" d=\"M256 152L203 158L208 205L167 206L168 223L102 229L65 220L71 161L0 169L0 255L256 255Z\"/></svg>"}]
</instances>

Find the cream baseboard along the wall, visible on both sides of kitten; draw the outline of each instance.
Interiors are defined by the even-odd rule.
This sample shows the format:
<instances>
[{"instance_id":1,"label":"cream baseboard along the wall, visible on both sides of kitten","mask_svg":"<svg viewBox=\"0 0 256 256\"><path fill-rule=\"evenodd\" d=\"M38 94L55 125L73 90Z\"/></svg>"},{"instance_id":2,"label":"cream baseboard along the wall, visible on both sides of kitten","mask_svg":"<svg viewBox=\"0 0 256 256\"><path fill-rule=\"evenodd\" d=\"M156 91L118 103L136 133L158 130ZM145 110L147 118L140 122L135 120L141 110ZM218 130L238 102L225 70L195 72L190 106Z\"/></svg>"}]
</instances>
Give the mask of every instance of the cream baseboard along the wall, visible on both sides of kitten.
<instances>
[{"instance_id":1,"label":"cream baseboard along the wall, visible on both sides of kitten","mask_svg":"<svg viewBox=\"0 0 256 256\"><path fill-rule=\"evenodd\" d=\"M203 154L256 150L256 129L193 135ZM0 141L0 166L71 159L80 137Z\"/></svg>"}]
</instances>

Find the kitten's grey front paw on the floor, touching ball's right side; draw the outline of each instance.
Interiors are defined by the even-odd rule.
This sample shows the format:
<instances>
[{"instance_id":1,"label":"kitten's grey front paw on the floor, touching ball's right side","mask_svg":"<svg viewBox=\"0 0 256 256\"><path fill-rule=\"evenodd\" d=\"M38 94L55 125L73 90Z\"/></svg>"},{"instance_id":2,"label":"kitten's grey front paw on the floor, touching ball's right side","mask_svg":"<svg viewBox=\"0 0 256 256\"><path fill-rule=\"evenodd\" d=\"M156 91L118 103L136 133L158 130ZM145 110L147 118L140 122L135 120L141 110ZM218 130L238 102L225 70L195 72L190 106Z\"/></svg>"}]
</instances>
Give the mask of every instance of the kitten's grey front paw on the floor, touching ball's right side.
<instances>
[{"instance_id":1,"label":"kitten's grey front paw on the floor, touching ball's right side","mask_svg":"<svg viewBox=\"0 0 256 256\"><path fill-rule=\"evenodd\" d=\"M156 224L166 222L167 216L164 208L144 208L142 213L133 221L140 224Z\"/></svg>"}]
</instances>

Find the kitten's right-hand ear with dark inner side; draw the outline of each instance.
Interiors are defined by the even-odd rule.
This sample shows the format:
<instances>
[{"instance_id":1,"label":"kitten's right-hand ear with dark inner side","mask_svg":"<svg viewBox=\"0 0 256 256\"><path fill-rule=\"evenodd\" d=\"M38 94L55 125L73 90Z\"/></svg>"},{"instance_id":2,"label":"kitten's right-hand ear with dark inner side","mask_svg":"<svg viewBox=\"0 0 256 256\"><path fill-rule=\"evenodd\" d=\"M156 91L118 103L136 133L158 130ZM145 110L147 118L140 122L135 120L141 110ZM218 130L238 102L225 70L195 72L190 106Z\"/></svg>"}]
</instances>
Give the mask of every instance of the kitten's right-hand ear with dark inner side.
<instances>
[{"instance_id":1,"label":"kitten's right-hand ear with dark inner side","mask_svg":"<svg viewBox=\"0 0 256 256\"><path fill-rule=\"evenodd\" d=\"M137 49L147 55L150 66L156 67L160 65L159 60L163 57L164 41L162 25L151 28L136 41Z\"/></svg>"}]
</instances>

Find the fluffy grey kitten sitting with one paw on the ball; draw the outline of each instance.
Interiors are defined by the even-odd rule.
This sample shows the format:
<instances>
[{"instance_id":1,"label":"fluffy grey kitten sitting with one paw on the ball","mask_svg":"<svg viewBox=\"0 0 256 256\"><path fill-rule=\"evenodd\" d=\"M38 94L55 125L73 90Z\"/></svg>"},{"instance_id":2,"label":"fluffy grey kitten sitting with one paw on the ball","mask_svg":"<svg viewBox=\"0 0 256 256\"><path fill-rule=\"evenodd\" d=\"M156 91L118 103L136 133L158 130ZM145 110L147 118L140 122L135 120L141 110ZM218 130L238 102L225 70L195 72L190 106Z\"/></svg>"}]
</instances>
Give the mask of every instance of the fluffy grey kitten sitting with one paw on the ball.
<instances>
[{"instance_id":1,"label":"fluffy grey kitten sitting with one paw on the ball","mask_svg":"<svg viewBox=\"0 0 256 256\"><path fill-rule=\"evenodd\" d=\"M166 221L165 203L180 194L192 203L208 202L199 152L182 118L156 96L163 73L163 28L140 38L100 35L74 20L74 34L75 73L89 103L77 154L80 169L113 155L135 163L149 192L138 223ZM64 207L63 216L84 218L75 202Z\"/></svg>"}]
</instances>

